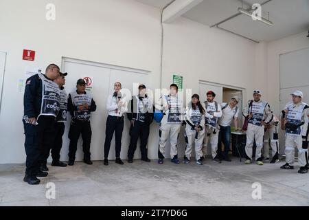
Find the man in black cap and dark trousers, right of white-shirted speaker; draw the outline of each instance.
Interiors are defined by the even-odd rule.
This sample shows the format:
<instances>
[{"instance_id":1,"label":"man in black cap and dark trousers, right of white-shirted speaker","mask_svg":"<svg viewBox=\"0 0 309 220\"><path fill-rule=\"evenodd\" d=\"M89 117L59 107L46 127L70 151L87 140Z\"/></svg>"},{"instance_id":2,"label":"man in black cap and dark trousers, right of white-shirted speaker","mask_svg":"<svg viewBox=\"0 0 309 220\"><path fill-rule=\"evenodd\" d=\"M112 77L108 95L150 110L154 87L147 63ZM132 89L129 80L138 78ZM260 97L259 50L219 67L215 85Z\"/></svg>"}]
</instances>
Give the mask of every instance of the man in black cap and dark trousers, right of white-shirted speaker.
<instances>
[{"instance_id":1,"label":"man in black cap and dark trousers, right of white-shirted speaker","mask_svg":"<svg viewBox=\"0 0 309 220\"><path fill-rule=\"evenodd\" d=\"M153 108L150 98L146 94L146 86L139 85L139 94L133 96L129 102L128 120L130 120L130 145L128 147L128 163L133 163L133 157L137 148L137 140L141 137L141 160L150 162L148 159L148 136L150 124L153 120Z\"/></svg>"}]
</instances>

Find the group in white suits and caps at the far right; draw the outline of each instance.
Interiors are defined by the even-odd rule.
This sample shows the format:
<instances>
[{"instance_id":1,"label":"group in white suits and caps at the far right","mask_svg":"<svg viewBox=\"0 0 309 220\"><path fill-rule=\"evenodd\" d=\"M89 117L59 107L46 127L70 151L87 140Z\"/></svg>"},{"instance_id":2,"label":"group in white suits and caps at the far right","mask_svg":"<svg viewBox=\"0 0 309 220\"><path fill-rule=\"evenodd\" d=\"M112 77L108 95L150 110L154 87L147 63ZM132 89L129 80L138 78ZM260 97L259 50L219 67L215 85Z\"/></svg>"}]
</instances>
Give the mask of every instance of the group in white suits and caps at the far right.
<instances>
[{"instance_id":1,"label":"group in white suits and caps at the far right","mask_svg":"<svg viewBox=\"0 0 309 220\"><path fill-rule=\"evenodd\" d=\"M245 164L252 162L253 142L255 142L255 162L258 165L263 165L263 139L264 157L269 159L268 144L270 144L273 155L271 163L279 161L279 119L271 111L268 102L261 100L261 96L261 91L253 91L253 100L248 102L243 111L243 115L248 121ZM282 110L281 129L285 131L286 137L286 164L280 168L294 169L296 147L298 149L298 173L308 173L309 107L308 104L302 102L303 93L301 91L294 91L290 96L292 96L292 101L288 102Z\"/></svg>"}]
</instances>

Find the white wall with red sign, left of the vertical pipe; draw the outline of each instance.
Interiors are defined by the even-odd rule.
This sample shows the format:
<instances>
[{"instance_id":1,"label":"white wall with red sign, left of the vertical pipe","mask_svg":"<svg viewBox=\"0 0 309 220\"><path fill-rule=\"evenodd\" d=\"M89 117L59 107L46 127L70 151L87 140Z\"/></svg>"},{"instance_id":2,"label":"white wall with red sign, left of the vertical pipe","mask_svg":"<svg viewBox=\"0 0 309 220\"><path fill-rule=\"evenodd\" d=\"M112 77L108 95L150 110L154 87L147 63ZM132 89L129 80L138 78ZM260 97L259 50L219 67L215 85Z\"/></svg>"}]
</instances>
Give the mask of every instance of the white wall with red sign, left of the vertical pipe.
<instances>
[{"instance_id":1,"label":"white wall with red sign, left of the vertical pipe","mask_svg":"<svg viewBox=\"0 0 309 220\"><path fill-rule=\"evenodd\" d=\"M51 2L56 5L56 21L45 20L45 5ZM18 92L18 80L28 65L61 65L65 56L145 69L151 72L151 86L159 87L158 9L133 0L1 0L0 5L0 50L8 52L0 114L0 164L25 162L23 93ZM36 51L34 62L22 61L23 49Z\"/></svg>"}]
</instances>

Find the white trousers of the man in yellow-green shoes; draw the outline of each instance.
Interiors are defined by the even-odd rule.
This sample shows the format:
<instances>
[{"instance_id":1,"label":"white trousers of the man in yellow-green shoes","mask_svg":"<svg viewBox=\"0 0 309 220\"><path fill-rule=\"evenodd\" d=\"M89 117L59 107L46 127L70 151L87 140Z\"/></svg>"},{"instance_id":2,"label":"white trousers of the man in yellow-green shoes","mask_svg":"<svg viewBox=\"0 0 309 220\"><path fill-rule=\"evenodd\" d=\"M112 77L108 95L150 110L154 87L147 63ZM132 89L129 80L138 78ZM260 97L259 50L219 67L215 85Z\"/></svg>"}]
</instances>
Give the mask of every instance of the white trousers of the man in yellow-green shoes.
<instances>
[{"instance_id":1,"label":"white trousers of the man in yellow-green shoes","mask_svg":"<svg viewBox=\"0 0 309 220\"><path fill-rule=\"evenodd\" d=\"M248 124L247 129L247 141L246 141L246 155L249 159L252 160L253 153L253 143L255 140L256 151L255 151L255 160L262 159L262 148L263 148L263 136L264 136L264 126L257 126L254 124Z\"/></svg>"}]
</instances>

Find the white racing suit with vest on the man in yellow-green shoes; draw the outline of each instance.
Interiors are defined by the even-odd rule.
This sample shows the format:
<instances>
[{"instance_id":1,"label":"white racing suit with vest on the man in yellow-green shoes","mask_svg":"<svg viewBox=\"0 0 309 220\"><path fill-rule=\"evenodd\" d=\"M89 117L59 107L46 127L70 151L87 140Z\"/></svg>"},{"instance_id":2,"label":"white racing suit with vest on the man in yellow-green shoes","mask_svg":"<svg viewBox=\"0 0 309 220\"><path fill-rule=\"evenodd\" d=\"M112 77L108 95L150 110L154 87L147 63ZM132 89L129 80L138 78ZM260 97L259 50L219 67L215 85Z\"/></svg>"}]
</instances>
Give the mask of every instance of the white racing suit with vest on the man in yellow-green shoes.
<instances>
[{"instance_id":1,"label":"white racing suit with vest on the man in yellow-green shoes","mask_svg":"<svg viewBox=\"0 0 309 220\"><path fill-rule=\"evenodd\" d=\"M252 102L252 104L251 104ZM252 160L253 154L253 143L255 140L256 151L255 151L255 161L262 161L262 148L263 148L263 136L264 136L264 125L262 121L266 124L273 120L273 112L268 102L249 101L247 107L244 108L242 115L247 118L247 116L252 113L252 118L249 119L248 129L247 129L247 141L246 141L246 159Z\"/></svg>"}]
</instances>

